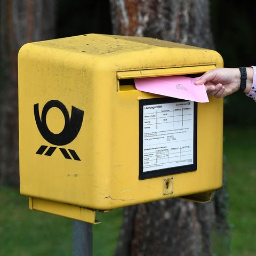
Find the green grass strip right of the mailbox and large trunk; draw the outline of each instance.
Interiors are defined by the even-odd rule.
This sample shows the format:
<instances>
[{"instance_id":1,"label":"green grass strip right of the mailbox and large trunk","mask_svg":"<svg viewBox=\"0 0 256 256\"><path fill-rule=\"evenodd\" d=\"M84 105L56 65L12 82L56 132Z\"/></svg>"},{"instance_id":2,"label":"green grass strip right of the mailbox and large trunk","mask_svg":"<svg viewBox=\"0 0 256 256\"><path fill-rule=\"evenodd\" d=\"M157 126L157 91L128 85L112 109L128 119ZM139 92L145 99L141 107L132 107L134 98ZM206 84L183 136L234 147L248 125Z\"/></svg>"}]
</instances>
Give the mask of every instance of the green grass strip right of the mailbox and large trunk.
<instances>
[{"instance_id":1,"label":"green grass strip right of the mailbox and large trunk","mask_svg":"<svg viewBox=\"0 0 256 256\"><path fill-rule=\"evenodd\" d=\"M225 127L232 256L256 256L256 127Z\"/></svg>"}]
</instances>

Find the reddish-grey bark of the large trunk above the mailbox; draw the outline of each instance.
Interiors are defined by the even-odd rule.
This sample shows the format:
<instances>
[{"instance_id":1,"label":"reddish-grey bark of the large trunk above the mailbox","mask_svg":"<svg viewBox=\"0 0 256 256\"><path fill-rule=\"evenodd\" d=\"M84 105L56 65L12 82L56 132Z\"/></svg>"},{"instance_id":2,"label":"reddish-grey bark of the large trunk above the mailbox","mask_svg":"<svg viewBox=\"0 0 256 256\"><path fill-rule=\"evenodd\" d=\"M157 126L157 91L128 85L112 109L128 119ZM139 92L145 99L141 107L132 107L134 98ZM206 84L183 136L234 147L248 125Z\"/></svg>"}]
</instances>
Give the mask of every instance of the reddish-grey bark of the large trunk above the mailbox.
<instances>
[{"instance_id":1,"label":"reddish-grey bark of the large trunk above the mailbox","mask_svg":"<svg viewBox=\"0 0 256 256\"><path fill-rule=\"evenodd\" d=\"M110 0L113 34L213 48L208 0Z\"/></svg>"}]
</instances>

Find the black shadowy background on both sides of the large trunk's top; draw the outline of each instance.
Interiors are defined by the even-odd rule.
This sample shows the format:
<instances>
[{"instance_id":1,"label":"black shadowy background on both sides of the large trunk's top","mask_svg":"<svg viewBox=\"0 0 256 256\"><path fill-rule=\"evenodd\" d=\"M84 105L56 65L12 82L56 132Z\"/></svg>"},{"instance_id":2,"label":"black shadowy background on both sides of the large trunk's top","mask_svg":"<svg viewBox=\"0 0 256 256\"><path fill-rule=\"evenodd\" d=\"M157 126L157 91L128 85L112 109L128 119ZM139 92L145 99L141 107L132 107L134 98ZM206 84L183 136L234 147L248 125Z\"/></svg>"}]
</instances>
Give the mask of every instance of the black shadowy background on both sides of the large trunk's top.
<instances>
[{"instance_id":1,"label":"black shadowy background on both sides of the large trunk's top","mask_svg":"<svg viewBox=\"0 0 256 256\"><path fill-rule=\"evenodd\" d=\"M210 2L215 50L222 55L225 67L256 65L256 3L251 0ZM108 1L58 0L57 5L57 37L88 33L111 34ZM252 117L250 111L254 104L242 92L226 98L225 124L255 125L256 118Z\"/></svg>"}]
</instances>

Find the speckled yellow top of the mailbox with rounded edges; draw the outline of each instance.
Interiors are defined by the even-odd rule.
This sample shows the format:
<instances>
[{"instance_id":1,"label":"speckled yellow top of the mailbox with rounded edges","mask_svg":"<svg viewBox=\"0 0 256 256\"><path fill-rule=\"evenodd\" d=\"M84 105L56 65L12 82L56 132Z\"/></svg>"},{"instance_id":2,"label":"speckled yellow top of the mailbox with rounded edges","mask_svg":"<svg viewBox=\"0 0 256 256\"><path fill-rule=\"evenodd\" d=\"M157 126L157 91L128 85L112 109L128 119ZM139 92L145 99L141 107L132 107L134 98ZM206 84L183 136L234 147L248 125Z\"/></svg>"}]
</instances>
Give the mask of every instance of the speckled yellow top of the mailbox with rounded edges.
<instances>
[{"instance_id":1,"label":"speckled yellow top of the mailbox with rounded edges","mask_svg":"<svg viewBox=\"0 0 256 256\"><path fill-rule=\"evenodd\" d=\"M84 66L84 71L223 65L216 51L149 37L86 34L28 43L19 55L27 53L26 58L31 58L33 52L38 61L70 62L70 70Z\"/></svg>"}]
</instances>

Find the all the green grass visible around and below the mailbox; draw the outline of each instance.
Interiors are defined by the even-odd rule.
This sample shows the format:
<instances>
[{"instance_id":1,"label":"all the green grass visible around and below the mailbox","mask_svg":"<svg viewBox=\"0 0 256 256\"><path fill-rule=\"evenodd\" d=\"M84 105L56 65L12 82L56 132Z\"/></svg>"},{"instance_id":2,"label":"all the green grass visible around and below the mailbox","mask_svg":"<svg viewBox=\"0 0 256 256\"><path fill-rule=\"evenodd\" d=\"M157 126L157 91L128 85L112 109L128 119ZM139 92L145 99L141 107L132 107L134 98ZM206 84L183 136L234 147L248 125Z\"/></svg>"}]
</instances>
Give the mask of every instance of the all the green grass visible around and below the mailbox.
<instances>
[{"instance_id":1,"label":"all the green grass visible around and below the mailbox","mask_svg":"<svg viewBox=\"0 0 256 256\"><path fill-rule=\"evenodd\" d=\"M214 255L256 256L255 134L254 127L225 127L231 244L229 237L213 234L213 247L219 249ZM0 196L0 255L72 254L72 220L28 210L28 198L13 188L0 186ZM102 223L93 226L93 254L114 255L122 209L97 213L97 219Z\"/></svg>"}]
</instances>

